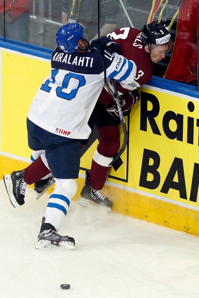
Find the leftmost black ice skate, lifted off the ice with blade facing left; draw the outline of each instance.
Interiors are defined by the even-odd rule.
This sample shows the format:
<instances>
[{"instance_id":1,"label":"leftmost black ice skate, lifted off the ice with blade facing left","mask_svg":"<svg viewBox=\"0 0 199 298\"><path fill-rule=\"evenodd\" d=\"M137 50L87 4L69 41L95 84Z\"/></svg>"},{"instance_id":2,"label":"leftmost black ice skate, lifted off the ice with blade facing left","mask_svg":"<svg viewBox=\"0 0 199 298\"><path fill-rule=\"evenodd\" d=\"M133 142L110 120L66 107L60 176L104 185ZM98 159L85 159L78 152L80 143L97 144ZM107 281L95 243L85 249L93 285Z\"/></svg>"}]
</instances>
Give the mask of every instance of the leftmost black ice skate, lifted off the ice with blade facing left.
<instances>
[{"instance_id":1,"label":"leftmost black ice skate, lifted off the ice with blade facing left","mask_svg":"<svg viewBox=\"0 0 199 298\"><path fill-rule=\"evenodd\" d=\"M13 207L23 205L27 183L24 181L24 170L12 172L10 175L4 175L4 184L8 197Z\"/></svg>"}]
</instances>

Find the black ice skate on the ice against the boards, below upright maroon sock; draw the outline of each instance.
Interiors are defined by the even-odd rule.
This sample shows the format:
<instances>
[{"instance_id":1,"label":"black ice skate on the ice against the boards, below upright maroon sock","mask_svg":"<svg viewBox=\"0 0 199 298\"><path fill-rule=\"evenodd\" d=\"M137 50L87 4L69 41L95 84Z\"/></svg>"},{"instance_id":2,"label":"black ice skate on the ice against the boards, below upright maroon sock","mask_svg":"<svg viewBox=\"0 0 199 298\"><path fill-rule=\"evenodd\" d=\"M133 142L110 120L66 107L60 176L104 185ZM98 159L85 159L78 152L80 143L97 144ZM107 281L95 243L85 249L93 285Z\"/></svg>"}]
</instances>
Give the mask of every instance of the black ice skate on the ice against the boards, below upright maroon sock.
<instances>
[{"instance_id":1,"label":"black ice skate on the ice against the boards, below upright maroon sock","mask_svg":"<svg viewBox=\"0 0 199 298\"><path fill-rule=\"evenodd\" d=\"M81 198L79 199L78 204L91 209L107 208L108 212L111 211L112 201L102 195L98 190L92 189L88 178L89 172L86 171L86 181L80 193Z\"/></svg>"}]
</instances>

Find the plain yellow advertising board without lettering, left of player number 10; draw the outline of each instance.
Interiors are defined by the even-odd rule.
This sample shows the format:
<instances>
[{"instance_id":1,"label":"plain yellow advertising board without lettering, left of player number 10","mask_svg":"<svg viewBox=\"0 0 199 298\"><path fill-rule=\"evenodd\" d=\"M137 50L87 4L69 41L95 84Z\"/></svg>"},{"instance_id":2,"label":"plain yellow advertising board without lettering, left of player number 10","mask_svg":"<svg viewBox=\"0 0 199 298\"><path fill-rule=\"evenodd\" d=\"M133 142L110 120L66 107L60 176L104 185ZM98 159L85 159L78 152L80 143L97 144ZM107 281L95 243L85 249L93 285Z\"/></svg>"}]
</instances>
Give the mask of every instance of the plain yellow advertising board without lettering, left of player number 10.
<instances>
[{"instance_id":1,"label":"plain yellow advertising board without lettering, left of player number 10","mask_svg":"<svg viewBox=\"0 0 199 298\"><path fill-rule=\"evenodd\" d=\"M26 117L37 89L49 73L50 63L47 59L1 50L0 151L30 159Z\"/></svg>"}]
</instances>

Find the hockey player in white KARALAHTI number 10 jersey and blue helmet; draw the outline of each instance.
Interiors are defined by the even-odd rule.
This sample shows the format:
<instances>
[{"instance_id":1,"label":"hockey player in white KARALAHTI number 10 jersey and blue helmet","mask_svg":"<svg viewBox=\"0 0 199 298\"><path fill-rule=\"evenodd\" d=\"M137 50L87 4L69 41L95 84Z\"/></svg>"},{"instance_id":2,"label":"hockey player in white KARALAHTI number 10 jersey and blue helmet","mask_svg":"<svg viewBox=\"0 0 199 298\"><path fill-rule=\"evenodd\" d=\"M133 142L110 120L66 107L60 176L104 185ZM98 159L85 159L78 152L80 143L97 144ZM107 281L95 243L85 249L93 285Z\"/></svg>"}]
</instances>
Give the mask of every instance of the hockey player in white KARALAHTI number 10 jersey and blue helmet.
<instances>
[{"instance_id":1,"label":"hockey player in white KARALAHTI number 10 jersey and blue helmet","mask_svg":"<svg viewBox=\"0 0 199 298\"><path fill-rule=\"evenodd\" d=\"M88 121L104 85L100 50L86 52L86 30L78 23L61 27L51 59L51 74L44 80L27 115L28 145L40 151L54 178L55 190L47 203L37 248L74 249L75 240L61 236L61 227L77 191L81 140L91 133ZM128 84L136 65L123 56L104 51L108 78ZM24 204L23 171L4 176L14 207ZM12 189L11 189L12 184Z\"/></svg>"}]
</instances>

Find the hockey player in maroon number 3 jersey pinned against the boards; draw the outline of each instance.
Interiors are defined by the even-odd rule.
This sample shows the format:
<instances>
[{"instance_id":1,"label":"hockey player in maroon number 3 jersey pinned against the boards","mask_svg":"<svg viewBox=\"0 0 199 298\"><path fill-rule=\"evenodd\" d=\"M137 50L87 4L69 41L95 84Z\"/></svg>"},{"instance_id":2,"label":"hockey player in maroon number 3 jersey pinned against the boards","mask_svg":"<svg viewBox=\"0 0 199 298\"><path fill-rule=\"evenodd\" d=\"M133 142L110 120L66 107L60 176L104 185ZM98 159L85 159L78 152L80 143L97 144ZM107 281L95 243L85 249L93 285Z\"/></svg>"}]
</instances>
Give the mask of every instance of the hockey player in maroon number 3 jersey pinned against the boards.
<instances>
[{"instance_id":1,"label":"hockey player in maroon number 3 jersey pinned against the boards","mask_svg":"<svg viewBox=\"0 0 199 298\"><path fill-rule=\"evenodd\" d=\"M171 50L170 34L161 24L153 22L145 25L142 32L126 27L115 30L108 37L119 44L125 58L135 61L137 65L137 73L132 83L126 86L122 83L117 83L121 100L125 101L122 109L127 116L130 113L130 107L139 100L139 93L136 89L147 83L152 77L152 62L157 63L162 60L165 57L165 53ZM90 46L91 49L105 48L109 50L110 45L107 44L106 38L103 37L91 42ZM90 206L90 201L94 201L97 206L104 205L110 208L112 207L112 201L104 197L99 190L104 186L111 168L109 164L120 147L118 130L120 119L117 117L118 111L115 103L105 89L102 90L97 105L98 113L95 115L94 120L98 128L100 140L92 159L90 173L86 172L86 181L81 191L82 198L79 203L84 206ZM50 175L47 162L44 159L42 160L41 156L38 157L37 152L33 152L32 160L35 161L25 170L23 176L27 184L35 183L44 176ZM52 183L53 179L51 179L51 176L43 181L36 182L34 190L37 192L37 198ZM18 191L20 192L20 189ZM20 195L24 198L24 193Z\"/></svg>"}]
</instances>

